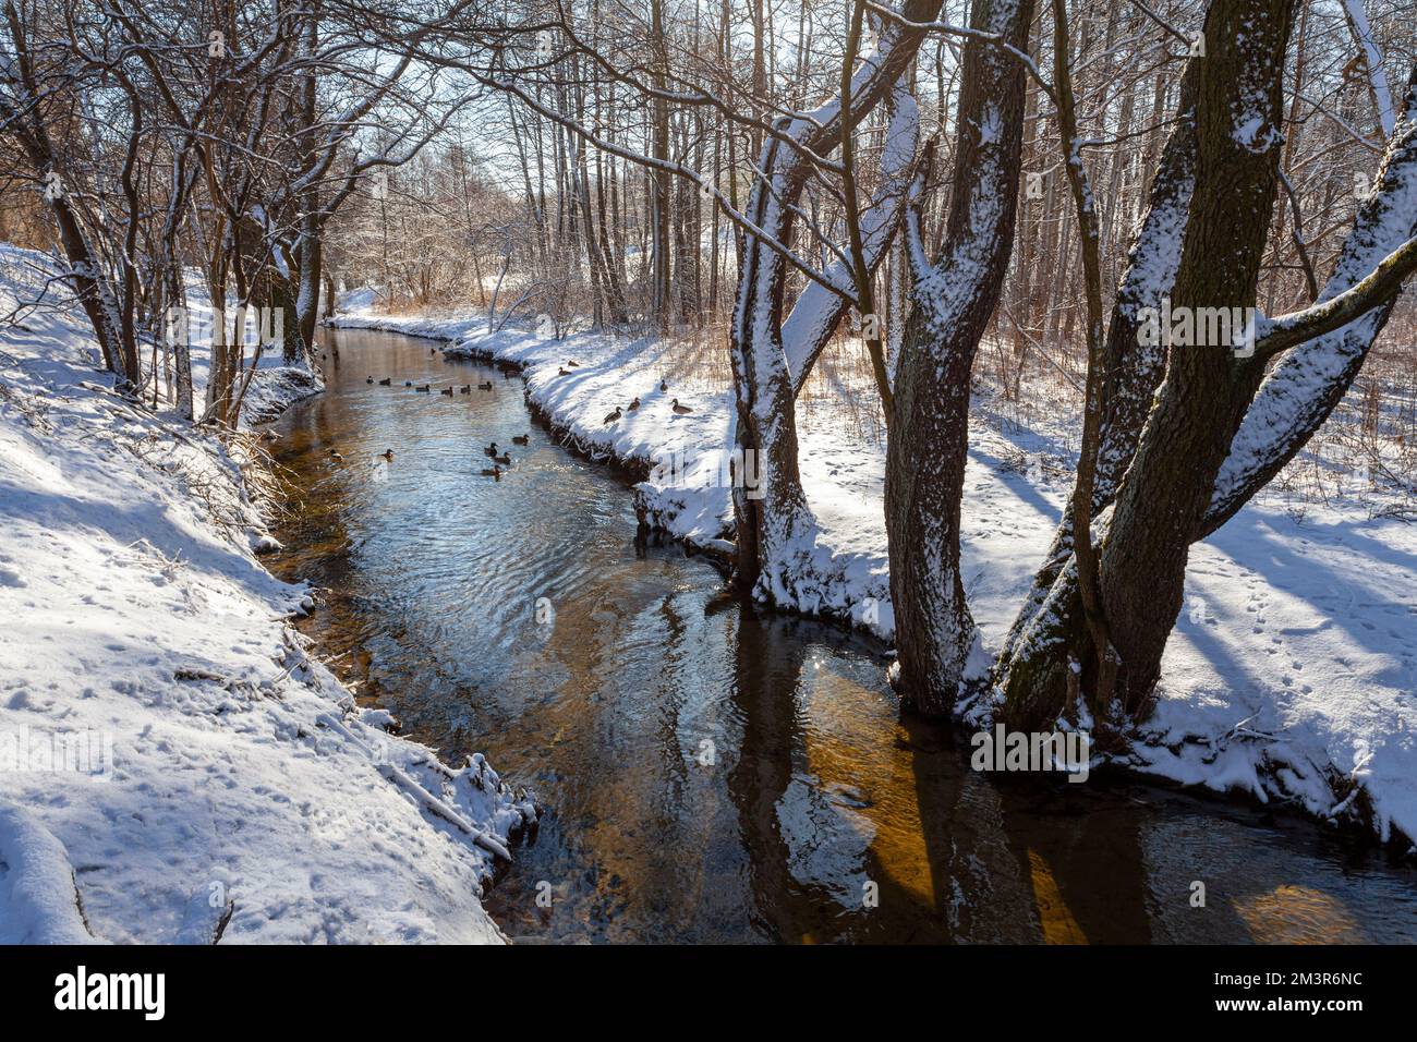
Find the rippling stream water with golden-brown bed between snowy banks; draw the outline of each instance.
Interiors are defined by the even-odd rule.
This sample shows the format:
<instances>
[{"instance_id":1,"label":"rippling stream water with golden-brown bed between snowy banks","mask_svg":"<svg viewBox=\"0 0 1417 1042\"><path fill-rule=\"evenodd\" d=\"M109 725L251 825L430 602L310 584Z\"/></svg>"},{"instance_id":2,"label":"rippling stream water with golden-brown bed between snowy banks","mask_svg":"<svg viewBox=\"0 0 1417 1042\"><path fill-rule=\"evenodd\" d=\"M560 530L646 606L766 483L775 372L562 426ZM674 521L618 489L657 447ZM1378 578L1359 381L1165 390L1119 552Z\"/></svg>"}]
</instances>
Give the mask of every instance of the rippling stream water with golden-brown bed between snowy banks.
<instances>
[{"instance_id":1,"label":"rippling stream water with golden-brown bed between snowy banks","mask_svg":"<svg viewBox=\"0 0 1417 1042\"><path fill-rule=\"evenodd\" d=\"M334 336L326 393L273 425L305 489L275 567L322 588L305 631L405 733L546 805L489 892L509 937L1417 940L1417 873L1316 825L971 771L901 716L879 648L740 608L673 544L636 551L625 482L534 427L519 379Z\"/></svg>"}]
</instances>

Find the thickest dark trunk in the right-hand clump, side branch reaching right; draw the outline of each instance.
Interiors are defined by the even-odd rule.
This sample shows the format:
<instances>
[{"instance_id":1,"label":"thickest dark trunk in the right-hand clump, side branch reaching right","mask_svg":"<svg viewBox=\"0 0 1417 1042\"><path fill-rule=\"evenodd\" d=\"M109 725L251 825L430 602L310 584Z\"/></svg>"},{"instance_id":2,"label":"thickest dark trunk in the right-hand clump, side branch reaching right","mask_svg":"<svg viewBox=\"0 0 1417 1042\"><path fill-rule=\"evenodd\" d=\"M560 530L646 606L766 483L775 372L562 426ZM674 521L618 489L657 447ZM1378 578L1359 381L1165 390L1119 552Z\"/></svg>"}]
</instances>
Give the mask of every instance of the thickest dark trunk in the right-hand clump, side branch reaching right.
<instances>
[{"instance_id":1,"label":"thickest dark trunk in the right-hand clump, side branch reaching right","mask_svg":"<svg viewBox=\"0 0 1417 1042\"><path fill-rule=\"evenodd\" d=\"M1196 103L1196 184L1176 272L1173 308L1253 308L1278 183L1282 69L1292 0L1216 0L1204 28ZM1168 635L1180 611L1192 536L1209 505L1230 435L1258 383L1229 344L1175 346L1136 454L1122 478L1101 549L1102 605L1121 659L1119 712L1145 715ZM1100 525L1098 527L1104 527ZM1071 570L1071 567L1070 567ZM1061 593L1061 591L1058 591ZM1044 726L1073 675L1091 690L1097 649L1080 612L1050 603L1064 632L1034 632L1039 658L1009 705L1020 724ZM1016 666L1017 668L1017 666ZM1112 706L1094 713L1114 716Z\"/></svg>"}]
</instances>

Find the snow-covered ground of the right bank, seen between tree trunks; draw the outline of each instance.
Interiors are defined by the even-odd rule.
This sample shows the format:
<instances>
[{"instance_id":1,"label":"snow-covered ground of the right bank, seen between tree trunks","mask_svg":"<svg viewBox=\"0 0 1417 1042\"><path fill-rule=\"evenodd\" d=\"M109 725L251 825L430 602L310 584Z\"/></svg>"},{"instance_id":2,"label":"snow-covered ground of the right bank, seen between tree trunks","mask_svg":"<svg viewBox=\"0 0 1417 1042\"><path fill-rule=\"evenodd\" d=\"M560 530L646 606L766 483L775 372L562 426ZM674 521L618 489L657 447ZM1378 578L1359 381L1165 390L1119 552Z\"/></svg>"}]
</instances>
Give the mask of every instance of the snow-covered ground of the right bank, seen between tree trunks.
<instances>
[{"instance_id":1,"label":"snow-covered ground of the right bank, seen between tree trunks","mask_svg":"<svg viewBox=\"0 0 1417 1042\"><path fill-rule=\"evenodd\" d=\"M682 352L592 333L489 335L486 316L472 310L383 315L367 291L346 295L333 325L446 340L451 354L519 363L531 403L582 449L689 461L691 488L650 481L636 491L676 536L711 546L728 534L728 489L706 475L718 471L728 444L731 391L680 380ZM635 397L638 410L605 422ZM693 411L676 414L673 398ZM884 444L847 437L839 420L825 408L799 424L802 478L820 526L813 554L840 580L835 604L799 607L849 615L888 638ZM1070 492L1070 454L1076 431L1066 411L1020 428L976 407L964 571L989 649L1000 645L1047 549ZM1131 766L1321 819L1356 819L1408 849L1417 836L1417 526L1374 519L1373 493L1353 489L1302 513L1261 495L1193 547L1158 710Z\"/></svg>"}]
</instances>

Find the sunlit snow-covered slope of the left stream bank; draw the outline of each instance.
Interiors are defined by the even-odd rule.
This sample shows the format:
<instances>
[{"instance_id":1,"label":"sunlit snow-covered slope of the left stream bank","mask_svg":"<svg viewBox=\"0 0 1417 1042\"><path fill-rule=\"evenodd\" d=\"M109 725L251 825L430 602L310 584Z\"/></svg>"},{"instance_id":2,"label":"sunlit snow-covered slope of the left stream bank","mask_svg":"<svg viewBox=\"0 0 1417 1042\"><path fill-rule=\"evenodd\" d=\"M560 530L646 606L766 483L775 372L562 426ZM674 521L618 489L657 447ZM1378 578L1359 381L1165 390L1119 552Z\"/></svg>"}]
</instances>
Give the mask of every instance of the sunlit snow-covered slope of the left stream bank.
<instances>
[{"instance_id":1,"label":"sunlit snow-covered slope of the left stream bank","mask_svg":"<svg viewBox=\"0 0 1417 1042\"><path fill-rule=\"evenodd\" d=\"M44 265L0 247L0 316ZM17 323L0 325L0 943L500 941L482 887L530 808L480 757L449 767L390 734L310 656L288 622L307 591L255 556L249 442L115 396L71 301ZM262 411L306 393L276 376Z\"/></svg>"}]
</instances>

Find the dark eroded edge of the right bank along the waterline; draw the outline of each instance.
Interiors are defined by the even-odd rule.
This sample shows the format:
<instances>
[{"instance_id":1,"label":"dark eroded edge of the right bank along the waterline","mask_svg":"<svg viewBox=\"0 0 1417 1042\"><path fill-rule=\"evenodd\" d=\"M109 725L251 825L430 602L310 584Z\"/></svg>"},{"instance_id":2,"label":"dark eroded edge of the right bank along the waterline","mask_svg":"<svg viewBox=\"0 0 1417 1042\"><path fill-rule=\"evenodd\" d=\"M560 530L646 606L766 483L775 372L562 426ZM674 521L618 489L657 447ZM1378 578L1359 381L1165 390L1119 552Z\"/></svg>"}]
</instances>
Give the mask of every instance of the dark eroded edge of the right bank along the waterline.
<instances>
[{"instance_id":1,"label":"dark eroded edge of the right bank along the waterline","mask_svg":"<svg viewBox=\"0 0 1417 1042\"><path fill-rule=\"evenodd\" d=\"M496 352L480 346L478 342L469 340L465 333L438 332L435 329L419 327L417 322L411 323L408 316L390 316L388 319L383 319L367 313L357 316L336 313L334 316L326 319L322 325L332 329L374 330L408 336L431 343L444 343L449 344L442 352L445 359L479 362L500 370L516 371L523 377L523 396L527 410L531 413L533 418L546 425L546 428L557 437L557 441L563 448L588 462L609 466L635 482L646 481L655 468L655 462L648 456L633 454L626 455L611 447L591 447L585 444L575 432L571 420L558 417L551 408L543 405L534 398L531 388L524 379L527 363L497 354ZM646 499L640 488L632 488L631 495L635 499L636 515L639 516L642 525L649 525L652 529L667 534L670 539L684 546L689 553L701 553L706 560L708 560L720 571L720 574L728 574L731 568L731 559L723 549L723 543L727 542L723 536L711 540L696 540L691 534L677 532L660 523L660 519L657 517L657 506ZM850 614L813 612L795 607L782 607L778 604L760 604L758 607L760 610L771 610L777 614L830 622L846 629L864 634L873 641L881 644L883 659L890 656L890 644L883 641L880 635L873 632L869 627L864 627L857 620L853 620ZM954 715L954 726L956 733L962 737L972 736L978 730L976 726L965 720L964 710ZM1362 846L1383 849L1390 859L1417 865L1417 836L1408 836L1397 824L1390 821L1386 829L1387 835L1384 836L1384 829L1372 804L1372 795L1363 781L1343 774L1332 763L1323 766L1321 770L1323 770L1325 774L1323 783L1333 795L1333 807L1339 809L1333 817L1326 817L1285 791L1278 775L1282 771L1292 770L1292 764L1288 761L1277 760L1272 764L1268 764L1271 774L1268 777L1260 775L1258 778L1265 790L1265 792L1261 794L1246 788L1220 788L1209 780L1186 781L1165 771L1155 768L1148 770L1148 764L1153 763L1153 758L1144 756L1141 750L1146 749L1152 757L1155 757L1158 750L1163 747L1165 744L1156 741L1155 736L1142 734L1132 741L1132 753L1125 756L1097 756L1093 770L1115 770L1141 784L1183 791L1190 795L1213 800L1216 802L1240 800L1251 807L1294 812L1297 818L1309 821L1322 829L1339 834ZM1173 754L1176 753L1175 749L1170 749L1169 751ZM1277 802L1271 802L1271 798L1277 798Z\"/></svg>"}]
</instances>

